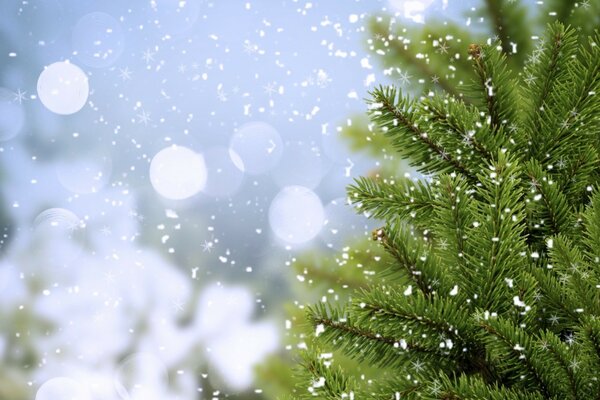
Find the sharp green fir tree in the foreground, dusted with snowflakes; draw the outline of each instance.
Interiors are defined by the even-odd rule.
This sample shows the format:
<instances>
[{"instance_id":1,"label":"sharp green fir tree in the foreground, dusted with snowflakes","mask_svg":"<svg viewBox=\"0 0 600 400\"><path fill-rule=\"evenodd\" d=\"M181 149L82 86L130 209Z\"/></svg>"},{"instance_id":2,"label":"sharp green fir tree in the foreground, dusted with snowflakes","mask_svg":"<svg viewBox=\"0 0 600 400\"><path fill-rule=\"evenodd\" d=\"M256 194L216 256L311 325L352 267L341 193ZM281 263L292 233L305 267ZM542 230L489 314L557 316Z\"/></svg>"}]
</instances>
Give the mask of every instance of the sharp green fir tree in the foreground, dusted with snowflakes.
<instances>
[{"instance_id":1,"label":"sharp green fir tree in the foreground, dusted with snowflakes","mask_svg":"<svg viewBox=\"0 0 600 400\"><path fill-rule=\"evenodd\" d=\"M317 340L393 373L307 356L307 398L600 398L600 35L552 24L522 70L469 46L475 79L370 116L430 178L361 178L361 212L400 277L321 302Z\"/></svg>"}]
</instances>

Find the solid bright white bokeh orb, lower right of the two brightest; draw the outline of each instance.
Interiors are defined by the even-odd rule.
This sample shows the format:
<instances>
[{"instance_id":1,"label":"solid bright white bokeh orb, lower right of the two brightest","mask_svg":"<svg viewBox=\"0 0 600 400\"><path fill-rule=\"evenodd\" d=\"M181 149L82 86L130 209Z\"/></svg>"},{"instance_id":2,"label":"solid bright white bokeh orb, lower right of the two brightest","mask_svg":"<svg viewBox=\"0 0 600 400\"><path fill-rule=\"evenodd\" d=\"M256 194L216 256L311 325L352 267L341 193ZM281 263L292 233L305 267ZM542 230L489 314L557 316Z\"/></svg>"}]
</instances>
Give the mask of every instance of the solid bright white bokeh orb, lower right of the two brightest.
<instances>
[{"instance_id":1,"label":"solid bright white bokeh orb, lower right of the two brightest","mask_svg":"<svg viewBox=\"0 0 600 400\"><path fill-rule=\"evenodd\" d=\"M159 151L150 163L152 187L167 199L187 199L201 191L206 180L204 158L187 147L167 147Z\"/></svg>"}]
</instances>

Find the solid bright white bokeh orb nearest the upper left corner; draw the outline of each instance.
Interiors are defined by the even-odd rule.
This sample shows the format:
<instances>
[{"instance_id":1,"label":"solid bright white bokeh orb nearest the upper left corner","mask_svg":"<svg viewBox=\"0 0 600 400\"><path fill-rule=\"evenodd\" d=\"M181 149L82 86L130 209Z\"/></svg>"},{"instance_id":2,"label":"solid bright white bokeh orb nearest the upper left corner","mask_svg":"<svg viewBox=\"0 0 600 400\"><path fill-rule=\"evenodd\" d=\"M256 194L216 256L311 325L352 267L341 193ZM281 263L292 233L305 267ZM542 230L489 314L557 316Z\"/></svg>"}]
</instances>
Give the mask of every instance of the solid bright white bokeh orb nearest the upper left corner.
<instances>
[{"instance_id":1,"label":"solid bright white bokeh orb nearest the upper left corner","mask_svg":"<svg viewBox=\"0 0 600 400\"><path fill-rule=\"evenodd\" d=\"M87 75L68 61L50 64L40 74L37 83L42 104L56 114L69 115L85 105L90 87Z\"/></svg>"}]
</instances>

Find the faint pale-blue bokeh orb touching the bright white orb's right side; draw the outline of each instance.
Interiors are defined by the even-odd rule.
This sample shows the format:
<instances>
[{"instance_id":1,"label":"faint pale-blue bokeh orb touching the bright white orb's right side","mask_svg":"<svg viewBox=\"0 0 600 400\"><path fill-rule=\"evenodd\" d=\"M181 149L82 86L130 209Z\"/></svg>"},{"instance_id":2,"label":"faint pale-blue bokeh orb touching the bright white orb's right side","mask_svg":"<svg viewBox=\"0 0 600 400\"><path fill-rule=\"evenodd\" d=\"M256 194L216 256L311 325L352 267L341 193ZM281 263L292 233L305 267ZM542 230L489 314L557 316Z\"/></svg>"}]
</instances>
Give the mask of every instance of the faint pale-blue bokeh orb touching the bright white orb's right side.
<instances>
[{"instance_id":1,"label":"faint pale-blue bokeh orb touching the bright white orb's right side","mask_svg":"<svg viewBox=\"0 0 600 400\"><path fill-rule=\"evenodd\" d=\"M203 156L208 177L202 191L216 197L233 196L244 179L239 156L226 147L210 148Z\"/></svg>"}]
</instances>

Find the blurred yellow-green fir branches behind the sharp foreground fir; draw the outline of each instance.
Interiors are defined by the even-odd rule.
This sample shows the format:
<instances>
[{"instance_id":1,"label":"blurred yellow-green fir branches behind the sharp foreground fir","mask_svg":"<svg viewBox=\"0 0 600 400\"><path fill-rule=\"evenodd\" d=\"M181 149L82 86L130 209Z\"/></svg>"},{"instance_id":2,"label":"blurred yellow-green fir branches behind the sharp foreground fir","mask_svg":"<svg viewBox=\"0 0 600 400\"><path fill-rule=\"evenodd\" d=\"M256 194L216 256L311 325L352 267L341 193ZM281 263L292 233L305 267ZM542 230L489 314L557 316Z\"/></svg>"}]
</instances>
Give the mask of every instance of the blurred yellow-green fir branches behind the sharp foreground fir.
<instances>
[{"instance_id":1,"label":"blurred yellow-green fir branches behind the sharp foreground fir","mask_svg":"<svg viewBox=\"0 0 600 400\"><path fill-rule=\"evenodd\" d=\"M577 40L582 43L600 26L598 0L538 3L481 1L479 7L466 13L466 27L450 20L403 25L397 16L374 16L370 20L367 45L384 68L384 74L415 96L446 92L466 104L477 104L477 94L473 96L469 91L472 82L479 79L468 57L469 45L500 41L509 70L519 72L528 57L540 55L541 50L533 50L533 45L547 24L559 21L574 27L579 33ZM483 23L475 27L475 21ZM391 140L365 116L354 117L351 126L343 130L343 136L352 150L365 152L380 161L379 168L370 172L371 178L393 182L394 177L409 171ZM372 245L373 239L383 246ZM360 293L355 290L375 282L406 285L409 277L393 271L398 271L399 265L413 265L415 270L420 270L426 263L419 258L421 248L406 253L399 250L405 247L396 246L397 243L407 240L402 235L391 239L385 237L383 230L375 230L365 232L361 241L348 242L341 253L312 252L295 260L296 300L287 305L286 349L259 368L259 386L269 398L333 399L339 398L341 392L333 390L328 395L323 389L353 387L356 384L350 382L353 379L385 380L389 371L384 367L371 373L374 371L365 364L357 363L338 350L329 353L331 348L327 347L323 353L315 341L315 333L321 332L315 332L315 327L307 322L305 305L320 302L343 306ZM370 347L364 351L365 356L370 357ZM298 363L302 365L299 367ZM325 376L328 382L320 382Z\"/></svg>"}]
</instances>

